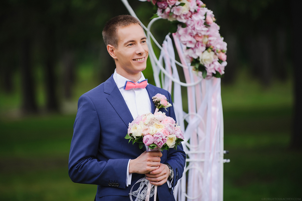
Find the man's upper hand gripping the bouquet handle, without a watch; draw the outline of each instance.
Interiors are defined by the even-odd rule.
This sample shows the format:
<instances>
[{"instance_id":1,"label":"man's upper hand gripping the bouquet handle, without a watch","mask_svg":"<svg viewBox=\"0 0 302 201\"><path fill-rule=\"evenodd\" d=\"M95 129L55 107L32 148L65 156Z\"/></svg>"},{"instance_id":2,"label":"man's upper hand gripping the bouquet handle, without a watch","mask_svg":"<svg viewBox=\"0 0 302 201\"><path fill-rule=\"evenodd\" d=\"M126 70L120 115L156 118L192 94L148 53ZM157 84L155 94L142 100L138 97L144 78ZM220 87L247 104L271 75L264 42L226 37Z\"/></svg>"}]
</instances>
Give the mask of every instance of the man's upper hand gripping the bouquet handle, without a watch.
<instances>
[{"instance_id":1,"label":"man's upper hand gripping the bouquet handle, without a watch","mask_svg":"<svg viewBox=\"0 0 302 201\"><path fill-rule=\"evenodd\" d=\"M162 152L160 151L143 152L136 159L130 160L129 173L145 174L157 170L162 165L160 157L162 157Z\"/></svg>"}]
</instances>

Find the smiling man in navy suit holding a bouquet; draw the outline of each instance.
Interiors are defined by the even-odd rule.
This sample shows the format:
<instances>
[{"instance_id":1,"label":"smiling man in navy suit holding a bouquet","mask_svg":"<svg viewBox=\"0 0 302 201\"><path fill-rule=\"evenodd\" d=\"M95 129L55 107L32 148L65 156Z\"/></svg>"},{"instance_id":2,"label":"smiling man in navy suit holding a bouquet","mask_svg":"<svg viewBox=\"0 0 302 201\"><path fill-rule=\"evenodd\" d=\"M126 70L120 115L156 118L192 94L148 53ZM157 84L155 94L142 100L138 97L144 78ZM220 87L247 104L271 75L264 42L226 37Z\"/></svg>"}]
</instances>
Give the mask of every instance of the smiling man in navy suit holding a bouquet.
<instances>
[{"instance_id":1,"label":"smiling man in navy suit holding a bouquet","mask_svg":"<svg viewBox=\"0 0 302 201\"><path fill-rule=\"evenodd\" d=\"M148 47L143 28L136 18L120 15L107 22L103 38L116 69L107 81L79 98L69 176L73 182L98 185L95 200L123 201L130 200L131 187L146 175L150 183L158 185L157 200L175 200L172 189L185 166L182 146L176 151L146 152L138 143L124 139L137 115L155 111L153 96L161 93L172 100L169 92L151 84L124 89L127 80L135 83L145 79L142 71ZM173 106L168 112L160 111L175 119ZM137 189L139 184L135 186Z\"/></svg>"}]
</instances>

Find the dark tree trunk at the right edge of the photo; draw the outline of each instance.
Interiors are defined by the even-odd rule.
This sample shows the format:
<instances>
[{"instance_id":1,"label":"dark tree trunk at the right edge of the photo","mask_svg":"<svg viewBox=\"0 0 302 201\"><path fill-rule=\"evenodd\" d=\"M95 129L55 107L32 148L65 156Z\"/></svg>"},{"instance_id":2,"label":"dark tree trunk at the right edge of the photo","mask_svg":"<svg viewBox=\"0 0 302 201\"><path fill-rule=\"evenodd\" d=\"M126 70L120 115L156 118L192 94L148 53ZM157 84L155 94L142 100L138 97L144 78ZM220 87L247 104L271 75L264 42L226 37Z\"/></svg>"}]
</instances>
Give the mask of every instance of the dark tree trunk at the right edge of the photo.
<instances>
[{"instance_id":1,"label":"dark tree trunk at the right edge of the photo","mask_svg":"<svg viewBox=\"0 0 302 201\"><path fill-rule=\"evenodd\" d=\"M301 45L302 40L300 37L300 7L291 1L291 15L292 15L292 61L293 61L293 71L294 71L294 114L293 114L293 127L291 132L291 144L292 149L302 148L302 135L301 135L301 123L302 123L302 66L300 61L301 56Z\"/></svg>"}]
</instances>

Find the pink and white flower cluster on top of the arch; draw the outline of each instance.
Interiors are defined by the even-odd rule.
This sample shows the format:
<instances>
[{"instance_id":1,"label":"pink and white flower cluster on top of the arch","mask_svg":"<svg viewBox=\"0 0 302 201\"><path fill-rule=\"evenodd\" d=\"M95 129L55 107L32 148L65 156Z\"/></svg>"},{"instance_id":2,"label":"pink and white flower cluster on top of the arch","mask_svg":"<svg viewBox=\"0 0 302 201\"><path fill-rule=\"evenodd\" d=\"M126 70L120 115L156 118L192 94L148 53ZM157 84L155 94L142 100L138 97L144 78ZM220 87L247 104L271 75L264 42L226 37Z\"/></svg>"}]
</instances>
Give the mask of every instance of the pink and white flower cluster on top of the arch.
<instances>
[{"instance_id":1,"label":"pink and white flower cluster on top of the arch","mask_svg":"<svg viewBox=\"0 0 302 201\"><path fill-rule=\"evenodd\" d=\"M184 55L203 78L221 77L226 66L226 42L220 36L213 11L200 0L147 0L157 8L153 16L178 21L176 36Z\"/></svg>"}]
</instances>

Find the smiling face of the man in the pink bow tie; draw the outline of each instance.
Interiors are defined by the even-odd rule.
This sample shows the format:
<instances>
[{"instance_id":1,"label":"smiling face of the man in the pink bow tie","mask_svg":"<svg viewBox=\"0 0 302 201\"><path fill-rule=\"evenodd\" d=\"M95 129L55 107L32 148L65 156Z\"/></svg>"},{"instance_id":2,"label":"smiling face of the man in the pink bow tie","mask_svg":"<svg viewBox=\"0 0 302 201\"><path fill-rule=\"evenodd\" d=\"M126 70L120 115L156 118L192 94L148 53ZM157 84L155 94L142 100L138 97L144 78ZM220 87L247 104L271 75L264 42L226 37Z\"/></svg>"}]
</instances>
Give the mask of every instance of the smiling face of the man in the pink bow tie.
<instances>
[{"instance_id":1,"label":"smiling face of the man in the pink bow tie","mask_svg":"<svg viewBox=\"0 0 302 201\"><path fill-rule=\"evenodd\" d=\"M130 24L117 30L118 47L115 48L115 63L123 73L135 75L146 69L148 46L143 28Z\"/></svg>"}]
</instances>

